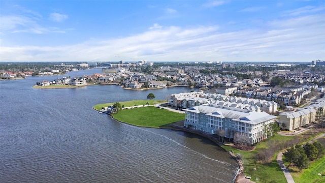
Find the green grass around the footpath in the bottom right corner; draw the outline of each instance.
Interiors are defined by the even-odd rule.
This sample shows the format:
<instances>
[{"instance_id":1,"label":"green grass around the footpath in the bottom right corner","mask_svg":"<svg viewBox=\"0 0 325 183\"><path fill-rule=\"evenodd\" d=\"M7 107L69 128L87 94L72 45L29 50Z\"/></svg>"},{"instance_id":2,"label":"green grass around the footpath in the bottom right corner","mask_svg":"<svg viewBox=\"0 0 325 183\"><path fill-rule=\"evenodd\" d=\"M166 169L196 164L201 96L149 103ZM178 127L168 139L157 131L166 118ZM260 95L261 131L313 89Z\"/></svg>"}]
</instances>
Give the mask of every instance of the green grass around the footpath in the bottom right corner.
<instances>
[{"instance_id":1,"label":"green grass around the footpath in the bottom right corner","mask_svg":"<svg viewBox=\"0 0 325 183\"><path fill-rule=\"evenodd\" d=\"M254 155L256 155L258 151L261 151L262 149L268 149L269 147L275 146L280 142L285 142L293 138L300 138L302 140L301 144L304 144L319 134L323 133L319 132L314 133L313 135L305 135L311 131L312 130L297 136L275 135L274 137L271 137L270 139L267 139L260 144L256 144L256 148L253 151L241 151L226 145L223 145L222 148L227 151L232 150L235 155L242 155L242 161L244 164L243 173L251 176L251 180L255 182L286 182L284 174L276 161L276 155L278 152L273 155L272 161L270 163L264 164L256 162L254 160ZM284 164L285 166L288 166L287 162L284 162ZM256 168L256 170L253 170L253 168ZM318 173L325 174L325 158L312 162L310 164L310 168L303 169L302 172L300 172L298 168L292 166L289 168L289 171L294 177L295 182L325 182L325 176L317 175ZM256 176L258 176L258 181L255 180Z\"/></svg>"}]
</instances>

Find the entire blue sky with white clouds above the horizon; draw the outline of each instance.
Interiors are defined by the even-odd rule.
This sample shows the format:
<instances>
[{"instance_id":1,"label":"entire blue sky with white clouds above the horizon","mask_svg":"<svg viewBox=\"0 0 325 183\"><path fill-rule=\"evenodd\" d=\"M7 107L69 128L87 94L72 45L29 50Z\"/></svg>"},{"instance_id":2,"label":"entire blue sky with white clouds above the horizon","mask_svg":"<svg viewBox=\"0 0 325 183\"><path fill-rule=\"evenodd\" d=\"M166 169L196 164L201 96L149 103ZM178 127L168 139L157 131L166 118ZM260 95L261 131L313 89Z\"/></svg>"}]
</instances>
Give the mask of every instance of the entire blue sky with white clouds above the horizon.
<instances>
[{"instance_id":1,"label":"entire blue sky with white clouds above the horizon","mask_svg":"<svg viewBox=\"0 0 325 183\"><path fill-rule=\"evenodd\" d=\"M0 62L325 60L325 1L0 0Z\"/></svg>"}]
</instances>

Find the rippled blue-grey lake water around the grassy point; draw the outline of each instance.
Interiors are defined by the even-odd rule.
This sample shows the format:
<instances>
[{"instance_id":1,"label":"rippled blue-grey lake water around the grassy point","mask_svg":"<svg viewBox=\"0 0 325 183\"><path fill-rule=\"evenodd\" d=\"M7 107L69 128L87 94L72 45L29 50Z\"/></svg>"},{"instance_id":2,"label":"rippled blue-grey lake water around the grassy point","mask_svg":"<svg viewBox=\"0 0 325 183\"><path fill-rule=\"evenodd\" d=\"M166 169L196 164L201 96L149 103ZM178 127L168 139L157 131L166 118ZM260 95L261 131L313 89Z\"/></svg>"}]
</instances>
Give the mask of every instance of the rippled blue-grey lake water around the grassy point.
<instances>
[{"instance_id":1,"label":"rippled blue-grey lake water around the grassy point","mask_svg":"<svg viewBox=\"0 0 325 183\"><path fill-rule=\"evenodd\" d=\"M101 69L66 76L93 73ZM0 81L0 182L234 181L237 162L210 140L119 123L92 109L99 103L146 99L149 93L167 100L189 88L32 88L57 77L63 76Z\"/></svg>"}]
</instances>

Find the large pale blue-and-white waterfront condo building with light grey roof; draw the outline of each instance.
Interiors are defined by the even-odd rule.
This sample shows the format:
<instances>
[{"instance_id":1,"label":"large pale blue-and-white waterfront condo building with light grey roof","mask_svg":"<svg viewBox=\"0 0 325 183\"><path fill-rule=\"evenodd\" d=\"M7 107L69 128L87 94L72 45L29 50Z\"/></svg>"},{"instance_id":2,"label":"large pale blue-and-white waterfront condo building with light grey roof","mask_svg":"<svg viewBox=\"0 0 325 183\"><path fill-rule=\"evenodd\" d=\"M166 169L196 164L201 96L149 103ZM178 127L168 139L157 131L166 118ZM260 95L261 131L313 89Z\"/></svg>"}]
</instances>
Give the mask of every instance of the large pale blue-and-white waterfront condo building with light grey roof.
<instances>
[{"instance_id":1,"label":"large pale blue-and-white waterfront condo building with light grey roof","mask_svg":"<svg viewBox=\"0 0 325 183\"><path fill-rule=\"evenodd\" d=\"M257 143L272 134L271 125L276 116L266 112L243 109L200 105L183 109L185 111L184 126L217 134L224 130L224 137L233 139L235 133L248 136L250 143Z\"/></svg>"}]
</instances>

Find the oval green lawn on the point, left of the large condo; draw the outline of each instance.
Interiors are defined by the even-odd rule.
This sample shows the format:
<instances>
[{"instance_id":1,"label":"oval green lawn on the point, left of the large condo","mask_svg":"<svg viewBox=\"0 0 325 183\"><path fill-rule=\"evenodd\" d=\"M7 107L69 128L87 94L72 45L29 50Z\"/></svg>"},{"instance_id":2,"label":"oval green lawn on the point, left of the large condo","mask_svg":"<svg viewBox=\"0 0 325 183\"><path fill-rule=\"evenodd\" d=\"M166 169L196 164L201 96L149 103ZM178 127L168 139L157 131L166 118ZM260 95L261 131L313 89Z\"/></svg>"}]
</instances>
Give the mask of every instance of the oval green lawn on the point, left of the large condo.
<instances>
[{"instance_id":1,"label":"oval green lawn on the point, left of the large condo","mask_svg":"<svg viewBox=\"0 0 325 183\"><path fill-rule=\"evenodd\" d=\"M153 106L124 109L112 114L112 116L123 123L151 128L159 128L160 126L185 119L184 114Z\"/></svg>"}]
</instances>

